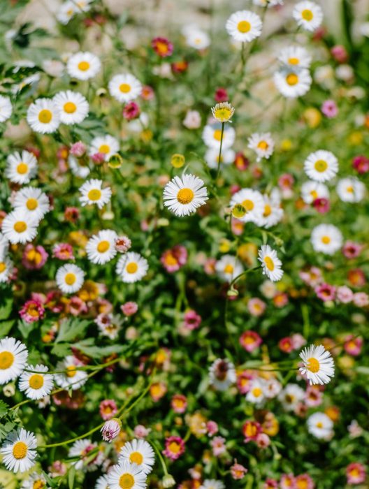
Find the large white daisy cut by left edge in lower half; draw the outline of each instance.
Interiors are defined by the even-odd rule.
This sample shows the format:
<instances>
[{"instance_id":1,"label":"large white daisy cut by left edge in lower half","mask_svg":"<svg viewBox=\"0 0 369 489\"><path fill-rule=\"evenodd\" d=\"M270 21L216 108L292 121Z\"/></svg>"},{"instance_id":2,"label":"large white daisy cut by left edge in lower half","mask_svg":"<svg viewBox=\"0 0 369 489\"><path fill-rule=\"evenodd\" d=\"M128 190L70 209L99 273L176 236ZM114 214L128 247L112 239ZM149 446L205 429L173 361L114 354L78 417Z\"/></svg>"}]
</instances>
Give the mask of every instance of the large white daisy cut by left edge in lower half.
<instances>
[{"instance_id":1,"label":"large white daisy cut by left edge in lower half","mask_svg":"<svg viewBox=\"0 0 369 489\"><path fill-rule=\"evenodd\" d=\"M0 385L8 384L22 374L28 358L26 346L15 338L0 340Z\"/></svg>"}]
</instances>

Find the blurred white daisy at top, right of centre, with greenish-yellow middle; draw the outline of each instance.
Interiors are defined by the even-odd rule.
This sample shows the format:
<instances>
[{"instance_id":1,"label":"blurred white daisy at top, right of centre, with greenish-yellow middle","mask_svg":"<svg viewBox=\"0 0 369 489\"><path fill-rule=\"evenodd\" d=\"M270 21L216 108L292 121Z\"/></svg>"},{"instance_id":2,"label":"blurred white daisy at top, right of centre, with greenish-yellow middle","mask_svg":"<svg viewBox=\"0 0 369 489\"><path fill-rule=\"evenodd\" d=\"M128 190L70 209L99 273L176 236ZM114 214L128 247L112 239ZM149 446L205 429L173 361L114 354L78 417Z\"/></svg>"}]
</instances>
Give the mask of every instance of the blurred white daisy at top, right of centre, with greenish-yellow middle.
<instances>
[{"instance_id":1,"label":"blurred white daisy at top, right of centre, with greenish-yellow middle","mask_svg":"<svg viewBox=\"0 0 369 489\"><path fill-rule=\"evenodd\" d=\"M256 13L249 10L239 10L226 21L226 31L235 40L249 43L261 34L263 22Z\"/></svg>"}]
</instances>

